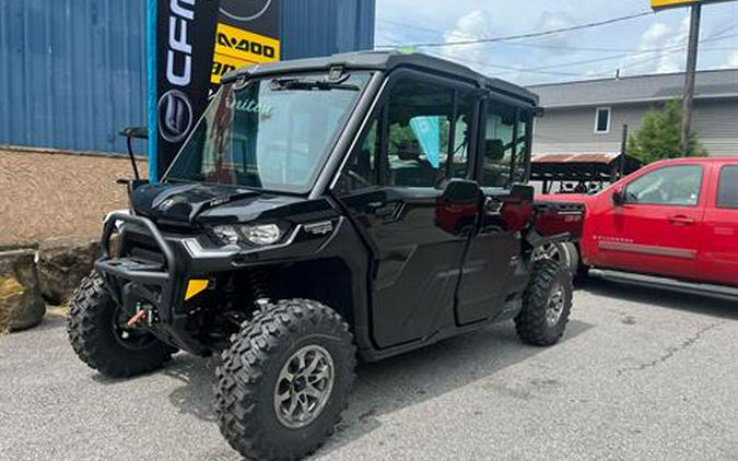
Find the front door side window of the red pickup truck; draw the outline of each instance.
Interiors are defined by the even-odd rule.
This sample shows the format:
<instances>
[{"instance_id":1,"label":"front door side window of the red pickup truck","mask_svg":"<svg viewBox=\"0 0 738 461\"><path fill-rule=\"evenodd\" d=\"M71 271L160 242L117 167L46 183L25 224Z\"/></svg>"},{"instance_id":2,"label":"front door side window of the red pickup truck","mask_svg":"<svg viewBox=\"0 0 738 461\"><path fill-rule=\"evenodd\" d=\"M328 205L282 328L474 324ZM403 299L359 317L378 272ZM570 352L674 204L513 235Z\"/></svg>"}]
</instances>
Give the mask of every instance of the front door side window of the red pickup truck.
<instances>
[{"instance_id":1,"label":"front door side window of the red pickup truck","mask_svg":"<svg viewBox=\"0 0 738 461\"><path fill-rule=\"evenodd\" d=\"M659 168L625 187L625 202L673 206L695 206L700 201L702 167L678 165Z\"/></svg>"}]
</instances>

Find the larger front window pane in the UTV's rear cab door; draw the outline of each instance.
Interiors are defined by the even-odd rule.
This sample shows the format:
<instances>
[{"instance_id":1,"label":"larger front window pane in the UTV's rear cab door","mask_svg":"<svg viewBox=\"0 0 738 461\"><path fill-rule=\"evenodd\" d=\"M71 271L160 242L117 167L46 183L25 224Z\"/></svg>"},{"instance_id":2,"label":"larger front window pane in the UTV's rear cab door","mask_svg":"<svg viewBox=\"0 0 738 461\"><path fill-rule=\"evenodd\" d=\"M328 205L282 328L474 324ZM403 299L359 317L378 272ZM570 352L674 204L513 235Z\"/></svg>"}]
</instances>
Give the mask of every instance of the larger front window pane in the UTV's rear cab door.
<instances>
[{"instance_id":1,"label":"larger front window pane in the UTV's rear cab door","mask_svg":"<svg viewBox=\"0 0 738 461\"><path fill-rule=\"evenodd\" d=\"M482 187L507 187L516 151L517 108L490 103L482 143Z\"/></svg>"}]
</instances>

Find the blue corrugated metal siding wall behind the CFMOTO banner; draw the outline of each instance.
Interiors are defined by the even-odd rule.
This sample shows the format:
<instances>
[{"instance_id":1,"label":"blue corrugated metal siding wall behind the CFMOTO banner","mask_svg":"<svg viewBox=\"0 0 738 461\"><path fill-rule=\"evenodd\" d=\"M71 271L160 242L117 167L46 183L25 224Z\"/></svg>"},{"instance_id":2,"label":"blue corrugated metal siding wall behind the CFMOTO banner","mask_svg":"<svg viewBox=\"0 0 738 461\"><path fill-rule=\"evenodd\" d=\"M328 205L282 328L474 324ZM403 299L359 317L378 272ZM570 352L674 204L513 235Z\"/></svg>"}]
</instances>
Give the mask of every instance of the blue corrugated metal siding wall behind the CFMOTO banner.
<instances>
[{"instance_id":1,"label":"blue corrugated metal siding wall behind the CFMOTO banner","mask_svg":"<svg viewBox=\"0 0 738 461\"><path fill-rule=\"evenodd\" d=\"M282 59L373 47L375 0L281 10ZM118 131L147 123L145 42L144 0L0 0L0 144L125 152Z\"/></svg>"}]
</instances>

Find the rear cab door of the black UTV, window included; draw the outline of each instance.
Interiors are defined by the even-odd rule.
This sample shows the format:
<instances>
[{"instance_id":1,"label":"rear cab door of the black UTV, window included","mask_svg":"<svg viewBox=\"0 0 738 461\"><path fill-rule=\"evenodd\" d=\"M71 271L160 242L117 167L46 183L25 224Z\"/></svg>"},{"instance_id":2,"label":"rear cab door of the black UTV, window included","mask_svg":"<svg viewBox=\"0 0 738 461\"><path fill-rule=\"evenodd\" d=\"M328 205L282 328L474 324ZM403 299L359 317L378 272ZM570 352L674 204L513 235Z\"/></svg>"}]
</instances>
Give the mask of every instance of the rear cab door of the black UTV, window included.
<instances>
[{"instance_id":1,"label":"rear cab door of the black UTV, window included","mask_svg":"<svg viewBox=\"0 0 738 461\"><path fill-rule=\"evenodd\" d=\"M532 198L512 191L514 184L526 181L532 108L493 93L484 101L481 114L476 177L484 201L457 294L456 311L461 326L496 318L508 303L519 303L511 296L527 282L524 272L517 277L514 274L523 263L520 230ZM520 189L525 188L517 188Z\"/></svg>"}]
</instances>

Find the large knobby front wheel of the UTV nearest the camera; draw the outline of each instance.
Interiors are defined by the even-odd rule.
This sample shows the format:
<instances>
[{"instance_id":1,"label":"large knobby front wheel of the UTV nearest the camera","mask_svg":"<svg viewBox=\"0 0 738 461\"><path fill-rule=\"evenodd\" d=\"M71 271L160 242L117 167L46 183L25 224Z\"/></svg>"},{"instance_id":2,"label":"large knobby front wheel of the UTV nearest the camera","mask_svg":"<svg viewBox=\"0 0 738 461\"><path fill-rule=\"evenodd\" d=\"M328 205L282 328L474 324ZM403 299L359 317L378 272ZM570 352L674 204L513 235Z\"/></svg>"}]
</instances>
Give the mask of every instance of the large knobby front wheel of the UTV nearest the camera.
<instances>
[{"instance_id":1,"label":"large knobby front wheel of the UTV nearest the camera","mask_svg":"<svg viewBox=\"0 0 738 461\"><path fill-rule=\"evenodd\" d=\"M315 365L316 357L319 365ZM313 453L340 421L355 363L353 336L338 314L308 299L277 302L245 321L222 354L215 385L221 433L234 449L253 460L296 460ZM328 365L332 368L330 389L325 378ZM318 375L324 377L321 381L317 381ZM323 389L324 398L311 397L307 406L300 403L292 409L289 395L297 395L300 402L300 376L305 376L303 382L315 382L312 393ZM318 406L321 400L324 404ZM305 409L312 404L321 410L302 423L291 419L290 409L296 418L309 415Z\"/></svg>"}]
</instances>

